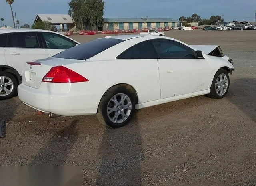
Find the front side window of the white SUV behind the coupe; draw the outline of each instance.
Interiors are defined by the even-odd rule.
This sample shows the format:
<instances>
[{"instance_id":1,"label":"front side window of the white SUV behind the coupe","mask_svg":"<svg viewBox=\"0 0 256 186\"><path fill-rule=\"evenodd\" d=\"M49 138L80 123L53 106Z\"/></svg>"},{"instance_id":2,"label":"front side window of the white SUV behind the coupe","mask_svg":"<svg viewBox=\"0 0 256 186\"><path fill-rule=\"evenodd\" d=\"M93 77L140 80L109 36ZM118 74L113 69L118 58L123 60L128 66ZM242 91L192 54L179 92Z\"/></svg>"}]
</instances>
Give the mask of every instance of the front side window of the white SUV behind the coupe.
<instances>
[{"instance_id":1,"label":"front side window of the white SUV behind the coupe","mask_svg":"<svg viewBox=\"0 0 256 186\"><path fill-rule=\"evenodd\" d=\"M68 40L59 34L43 32L42 36L48 49L68 49L75 46L72 40Z\"/></svg>"}]
</instances>

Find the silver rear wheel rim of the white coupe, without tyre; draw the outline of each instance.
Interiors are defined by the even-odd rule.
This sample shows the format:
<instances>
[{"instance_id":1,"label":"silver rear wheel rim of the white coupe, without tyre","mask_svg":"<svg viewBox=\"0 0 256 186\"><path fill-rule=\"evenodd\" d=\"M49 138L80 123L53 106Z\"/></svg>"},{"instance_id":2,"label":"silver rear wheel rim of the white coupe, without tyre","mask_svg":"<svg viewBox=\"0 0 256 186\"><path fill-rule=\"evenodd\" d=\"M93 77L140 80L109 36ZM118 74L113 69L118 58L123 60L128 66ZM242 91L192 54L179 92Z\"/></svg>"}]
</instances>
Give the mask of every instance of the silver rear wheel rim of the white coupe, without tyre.
<instances>
[{"instance_id":1,"label":"silver rear wheel rim of the white coupe, without tyre","mask_svg":"<svg viewBox=\"0 0 256 186\"><path fill-rule=\"evenodd\" d=\"M107 106L107 115L113 123L126 121L132 111L132 101L128 95L119 93L114 95Z\"/></svg>"}]
</instances>

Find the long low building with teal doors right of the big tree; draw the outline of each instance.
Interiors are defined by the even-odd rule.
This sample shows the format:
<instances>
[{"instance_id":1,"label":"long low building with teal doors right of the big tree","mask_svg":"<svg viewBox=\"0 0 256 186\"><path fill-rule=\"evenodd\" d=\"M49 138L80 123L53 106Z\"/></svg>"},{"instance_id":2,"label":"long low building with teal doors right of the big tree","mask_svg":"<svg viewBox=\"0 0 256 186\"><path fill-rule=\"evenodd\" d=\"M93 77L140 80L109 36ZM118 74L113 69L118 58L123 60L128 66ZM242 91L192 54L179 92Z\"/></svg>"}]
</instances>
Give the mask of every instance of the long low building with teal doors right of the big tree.
<instances>
[{"instance_id":1,"label":"long low building with teal doors right of the big tree","mask_svg":"<svg viewBox=\"0 0 256 186\"><path fill-rule=\"evenodd\" d=\"M172 18L104 18L103 30L130 30L143 28L159 28L178 25L178 21Z\"/></svg>"}]
</instances>

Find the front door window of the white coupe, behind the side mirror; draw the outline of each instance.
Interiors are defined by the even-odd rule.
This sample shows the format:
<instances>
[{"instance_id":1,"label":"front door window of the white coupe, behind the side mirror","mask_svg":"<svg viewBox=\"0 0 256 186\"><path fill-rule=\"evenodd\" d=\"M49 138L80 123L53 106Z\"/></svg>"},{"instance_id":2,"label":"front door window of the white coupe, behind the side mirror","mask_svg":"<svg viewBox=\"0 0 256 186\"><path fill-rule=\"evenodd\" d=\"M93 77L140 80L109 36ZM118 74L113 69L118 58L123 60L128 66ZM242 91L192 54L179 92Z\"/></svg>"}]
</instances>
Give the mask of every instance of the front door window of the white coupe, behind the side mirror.
<instances>
[{"instance_id":1,"label":"front door window of the white coupe, behind the side mirror","mask_svg":"<svg viewBox=\"0 0 256 186\"><path fill-rule=\"evenodd\" d=\"M172 40L151 40L160 59L194 59L192 49Z\"/></svg>"}]
</instances>

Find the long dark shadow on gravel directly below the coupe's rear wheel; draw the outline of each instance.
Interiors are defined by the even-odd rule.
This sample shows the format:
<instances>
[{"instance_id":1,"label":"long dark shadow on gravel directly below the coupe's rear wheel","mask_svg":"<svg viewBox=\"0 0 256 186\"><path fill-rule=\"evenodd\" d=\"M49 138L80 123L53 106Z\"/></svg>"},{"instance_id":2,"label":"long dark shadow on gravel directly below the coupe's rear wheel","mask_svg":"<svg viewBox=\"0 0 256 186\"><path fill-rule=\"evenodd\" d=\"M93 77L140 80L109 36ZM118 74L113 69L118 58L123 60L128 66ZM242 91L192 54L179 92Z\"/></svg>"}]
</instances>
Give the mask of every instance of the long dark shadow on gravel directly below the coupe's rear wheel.
<instances>
[{"instance_id":1,"label":"long dark shadow on gravel directly below the coupe's rear wheel","mask_svg":"<svg viewBox=\"0 0 256 186\"><path fill-rule=\"evenodd\" d=\"M143 154L137 112L128 125L118 129L106 127L102 136L96 185L141 185Z\"/></svg>"}]
</instances>

